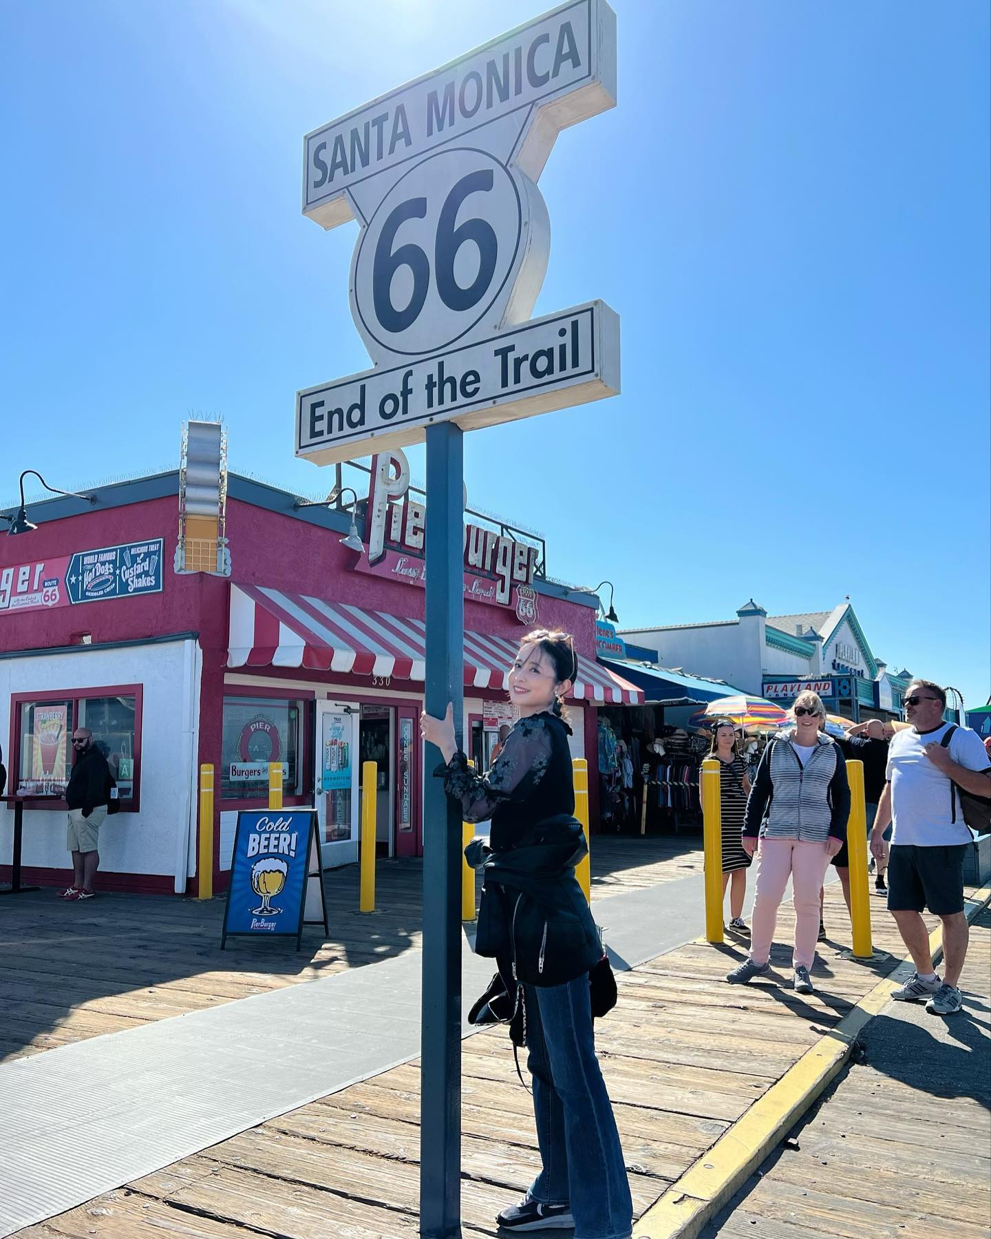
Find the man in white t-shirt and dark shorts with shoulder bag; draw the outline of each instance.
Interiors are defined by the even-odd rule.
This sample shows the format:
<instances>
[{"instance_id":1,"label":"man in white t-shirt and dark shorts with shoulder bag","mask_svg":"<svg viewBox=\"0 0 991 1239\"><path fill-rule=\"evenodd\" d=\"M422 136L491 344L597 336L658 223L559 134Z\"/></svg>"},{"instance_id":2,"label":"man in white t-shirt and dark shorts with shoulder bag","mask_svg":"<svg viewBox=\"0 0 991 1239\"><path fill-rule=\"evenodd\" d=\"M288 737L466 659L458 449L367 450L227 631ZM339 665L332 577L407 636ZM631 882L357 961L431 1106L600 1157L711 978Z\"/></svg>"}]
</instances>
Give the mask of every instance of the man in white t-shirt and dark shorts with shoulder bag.
<instances>
[{"instance_id":1,"label":"man in white t-shirt and dark shorts with shoulder bag","mask_svg":"<svg viewBox=\"0 0 991 1239\"><path fill-rule=\"evenodd\" d=\"M892 997L925 1001L934 1015L955 1015L964 1004L958 986L967 953L964 914L964 856L972 835L954 784L991 795L991 764L981 737L943 721L946 694L930 680L913 680L904 699L910 727L888 750L887 782L871 831L871 851L884 855L883 833L894 821L888 861L888 911L912 955L915 971ZM943 922L945 973L940 983L929 952L922 911Z\"/></svg>"}]
</instances>

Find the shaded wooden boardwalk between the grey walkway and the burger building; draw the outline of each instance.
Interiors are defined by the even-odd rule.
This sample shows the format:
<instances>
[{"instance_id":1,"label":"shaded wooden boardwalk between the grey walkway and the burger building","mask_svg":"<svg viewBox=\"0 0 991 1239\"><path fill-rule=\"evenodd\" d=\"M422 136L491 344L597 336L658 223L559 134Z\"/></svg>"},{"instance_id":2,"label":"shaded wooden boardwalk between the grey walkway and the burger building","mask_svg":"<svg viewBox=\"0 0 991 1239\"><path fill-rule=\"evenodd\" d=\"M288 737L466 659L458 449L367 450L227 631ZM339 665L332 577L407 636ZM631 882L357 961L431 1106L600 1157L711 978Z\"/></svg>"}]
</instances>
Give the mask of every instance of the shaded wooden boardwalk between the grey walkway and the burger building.
<instances>
[{"instance_id":1,"label":"shaded wooden boardwalk between the grey walkway and the burger building","mask_svg":"<svg viewBox=\"0 0 991 1239\"><path fill-rule=\"evenodd\" d=\"M699 843L596 836L592 898L700 873ZM308 927L299 954L282 942L245 939L222 952L223 897L63 903L42 890L0 901L0 1061L420 949L420 861L378 862L374 916L357 911L356 865L326 881L331 937Z\"/></svg>"}]
</instances>

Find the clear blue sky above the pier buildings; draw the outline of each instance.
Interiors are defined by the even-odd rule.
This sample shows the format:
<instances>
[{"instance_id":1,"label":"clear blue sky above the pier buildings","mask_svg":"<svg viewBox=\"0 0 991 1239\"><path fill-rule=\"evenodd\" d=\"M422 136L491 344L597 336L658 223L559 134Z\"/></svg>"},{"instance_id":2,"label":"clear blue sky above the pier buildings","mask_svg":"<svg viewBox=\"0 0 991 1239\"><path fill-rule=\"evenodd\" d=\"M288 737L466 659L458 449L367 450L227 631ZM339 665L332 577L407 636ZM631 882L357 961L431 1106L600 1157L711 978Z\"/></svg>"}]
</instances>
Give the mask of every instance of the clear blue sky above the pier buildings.
<instances>
[{"instance_id":1,"label":"clear blue sky above the pier buildings","mask_svg":"<svg viewBox=\"0 0 991 1239\"><path fill-rule=\"evenodd\" d=\"M608 301L623 394L469 435L469 499L624 626L850 593L876 654L984 700L986 0L616 9L619 105L540 181L536 312ZM540 11L6 0L0 497L173 466L197 414L322 492L295 392L368 361L302 135Z\"/></svg>"}]
</instances>

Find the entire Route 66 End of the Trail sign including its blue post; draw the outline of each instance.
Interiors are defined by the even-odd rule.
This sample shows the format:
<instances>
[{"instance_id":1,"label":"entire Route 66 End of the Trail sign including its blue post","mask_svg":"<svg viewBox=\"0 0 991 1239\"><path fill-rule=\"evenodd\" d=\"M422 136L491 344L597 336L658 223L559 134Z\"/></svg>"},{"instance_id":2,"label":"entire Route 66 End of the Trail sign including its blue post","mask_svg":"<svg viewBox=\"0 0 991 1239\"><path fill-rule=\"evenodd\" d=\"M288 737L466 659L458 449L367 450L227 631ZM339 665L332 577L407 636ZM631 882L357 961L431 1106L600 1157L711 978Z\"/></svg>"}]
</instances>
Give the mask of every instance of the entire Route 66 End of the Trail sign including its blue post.
<instances>
[{"instance_id":1,"label":"entire Route 66 End of the Trail sign including its blue post","mask_svg":"<svg viewBox=\"0 0 991 1239\"><path fill-rule=\"evenodd\" d=\"M536 182L560 130L614 105L616 15L571 0L303 140L303 214L360 225L351 312L373 366L297 393L296 455L334 465L426 442L426 709L453 703L458 740L463 431L619 392L607 305L530 317L550 253ZM602 192L595 169L585 188ZM432 757L420 1229L447 1239L461 1233L461 813Z\"/></svg>"}]
</instances>

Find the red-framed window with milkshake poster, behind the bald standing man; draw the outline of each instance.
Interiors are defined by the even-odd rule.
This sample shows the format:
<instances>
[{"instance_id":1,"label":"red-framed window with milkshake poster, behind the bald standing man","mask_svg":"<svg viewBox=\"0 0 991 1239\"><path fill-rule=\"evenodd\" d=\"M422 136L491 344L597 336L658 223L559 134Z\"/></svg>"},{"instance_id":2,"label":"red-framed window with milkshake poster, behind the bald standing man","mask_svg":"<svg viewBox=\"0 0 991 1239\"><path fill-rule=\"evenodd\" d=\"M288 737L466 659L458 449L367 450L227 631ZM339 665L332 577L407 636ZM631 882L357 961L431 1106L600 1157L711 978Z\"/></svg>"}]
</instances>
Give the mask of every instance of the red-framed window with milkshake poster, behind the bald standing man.
<instances>
[{"instance_id":1,"label":"red-framed window with milkshake poster, behind the bald standing man","mask_svg":"<svg viewBox=\"0 0 991 1239\"><path fill-rule=\"evenodd\" d=\"M32 700L19 698L16 793L62 795L72 772L72 733L88 727L116 779L121 808L138 809L140 779L140 688L69 690Z\"/></svg>"}]
</instances>

